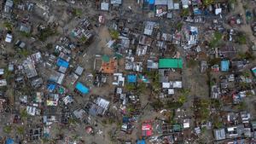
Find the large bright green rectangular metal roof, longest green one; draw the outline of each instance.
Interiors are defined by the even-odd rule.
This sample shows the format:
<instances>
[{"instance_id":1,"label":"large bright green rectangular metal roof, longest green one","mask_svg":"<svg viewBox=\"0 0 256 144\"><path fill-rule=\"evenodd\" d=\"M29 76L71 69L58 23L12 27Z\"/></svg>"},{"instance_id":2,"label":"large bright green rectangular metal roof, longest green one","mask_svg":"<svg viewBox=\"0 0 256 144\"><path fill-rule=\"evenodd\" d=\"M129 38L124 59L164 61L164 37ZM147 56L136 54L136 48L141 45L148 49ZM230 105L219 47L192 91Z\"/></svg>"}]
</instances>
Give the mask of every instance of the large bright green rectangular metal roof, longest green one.
<instances>
[{"instance_id":1,"label":"large bright green rectangular metal roof, longest green one","mask_svg":"<svg viewBox=\"0 0 256 144\"><path fill-rule=\"evenodd\" d=\"M183 68L182 59L160 59L159 68Z\"/></svg>"}]
</instances>

